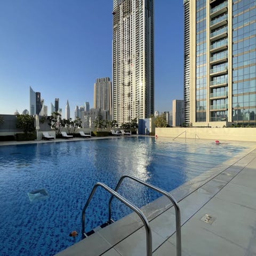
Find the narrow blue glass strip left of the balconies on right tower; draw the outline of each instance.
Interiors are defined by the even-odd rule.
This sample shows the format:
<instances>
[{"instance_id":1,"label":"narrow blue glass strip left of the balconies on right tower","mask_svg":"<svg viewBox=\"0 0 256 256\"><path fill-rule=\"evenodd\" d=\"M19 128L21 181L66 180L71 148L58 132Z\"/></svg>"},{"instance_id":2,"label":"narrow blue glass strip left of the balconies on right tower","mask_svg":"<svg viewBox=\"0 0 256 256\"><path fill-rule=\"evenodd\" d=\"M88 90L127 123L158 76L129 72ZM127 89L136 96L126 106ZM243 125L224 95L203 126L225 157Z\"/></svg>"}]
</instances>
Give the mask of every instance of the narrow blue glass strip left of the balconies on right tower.
<instances>
[{"instance_id":1,"label":"narrow blue glass strip left of the balconies on right tower","mask_svg":"<svg viewBox=\"0 0 256 256\"><path fill-rule=\"evenodd\" d=\"M196 1L196 121L206 121L206 0Z\"/></svg>"}]
</instances>

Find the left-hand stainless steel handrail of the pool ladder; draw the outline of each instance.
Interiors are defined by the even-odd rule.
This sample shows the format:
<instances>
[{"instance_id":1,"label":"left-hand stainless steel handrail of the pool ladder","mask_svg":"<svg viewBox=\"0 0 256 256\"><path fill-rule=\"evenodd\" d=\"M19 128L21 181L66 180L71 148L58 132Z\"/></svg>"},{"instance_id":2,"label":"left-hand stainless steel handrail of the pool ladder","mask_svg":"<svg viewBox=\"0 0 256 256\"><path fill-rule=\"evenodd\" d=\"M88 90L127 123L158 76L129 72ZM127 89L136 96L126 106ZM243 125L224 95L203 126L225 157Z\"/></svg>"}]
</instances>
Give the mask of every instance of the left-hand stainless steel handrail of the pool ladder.
<instances>
[{"instance_id":1,"label":"left-hand stainless steel handrail of the pool ladder","mask_svg":"<svg viewBox=\"0 0 256 256\"><path fill-rule=\"evenodd\" d=\"M123 202L125 205L130 207L135 213L137 213L139 215L140 219L143 222L145 230L146 230L147 256L152 256L152 234L151 234L149 222L148 222L147 218L145 217L145 215L141 212L141 210L137 206L135 206L129 200L125 199L123 196L119 195L116 191L114 191L113 189L108 187L106 184L101 183L101 182L95 183L95 185L91 191L91 194L90 194L89 198L87 199L87 201L84 205L83 211L82 211L82 236L83 236L83 238L86 237L86 234L85 234L85 210L86 210L87 206L89 205L89 203L95 193L95 190L99 186L104 188L105 190L107 190L111 194L111 198L113 198L115 196L117 199L119 199L121 202Z\"/></svg>"}]
</instances>

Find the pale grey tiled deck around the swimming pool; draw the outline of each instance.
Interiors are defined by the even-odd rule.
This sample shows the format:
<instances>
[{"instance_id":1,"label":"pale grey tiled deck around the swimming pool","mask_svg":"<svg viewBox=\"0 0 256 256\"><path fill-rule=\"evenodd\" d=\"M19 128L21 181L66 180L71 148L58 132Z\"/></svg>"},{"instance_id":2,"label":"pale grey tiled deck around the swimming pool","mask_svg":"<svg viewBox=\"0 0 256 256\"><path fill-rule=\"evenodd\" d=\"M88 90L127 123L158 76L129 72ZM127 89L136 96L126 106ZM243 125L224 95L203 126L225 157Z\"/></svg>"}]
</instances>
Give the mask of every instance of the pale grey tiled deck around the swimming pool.
<instances>
[{"instance_id":1,"label":"pale grey tiled deck around the swimming pool","mask_svg":"<svg viewBox=\"0 0 256 256\"><path fill-rule=\"evenodd\" d=\"M203 174L172 191L181 210L182 256L256 256L255 148L237 161L223 164L221 171ZM160 197L141 210L151 227L153 255L176 255L171 203ZM146 255L145 228L132 213L56 255Z\"/></svg>"}]
</instances>

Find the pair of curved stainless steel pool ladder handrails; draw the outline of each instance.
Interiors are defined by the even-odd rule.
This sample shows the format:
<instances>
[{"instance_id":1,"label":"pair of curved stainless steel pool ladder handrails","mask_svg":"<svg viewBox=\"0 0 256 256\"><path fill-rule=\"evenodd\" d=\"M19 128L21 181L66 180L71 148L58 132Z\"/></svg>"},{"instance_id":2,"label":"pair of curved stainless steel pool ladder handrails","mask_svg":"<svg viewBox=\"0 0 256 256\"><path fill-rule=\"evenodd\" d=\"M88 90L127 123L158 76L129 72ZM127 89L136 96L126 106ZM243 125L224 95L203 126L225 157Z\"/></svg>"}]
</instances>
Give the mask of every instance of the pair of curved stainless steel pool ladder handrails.
<instances>
[{"instance_id":1,"label":"pair of curved stainless steel pool ladder handrails","mask_svg":"<svg viewBox=\"0 0 256 256\"><path fill-rule=\"evenodd\" d=\"M174 206L174 209L175 209L175 220L176 220L176 252L177 252L177 256L181 256L181 227L180 227L180 209L179 209L179 206L176 202L176 200L171 196L171 194L167 193L165 190L163 189L160 189L156 186L153 186L147 182L144 182L138 178L135 178L131 175L123 175L118 183L117 183L117 186L115 188L115 190L111 189L110 187L108 187L105 183L102 183L102 182L97 182L95 183L92 191L91 191L91 194L89 196L89 198L87 199L85 205L84 205L84 208L83 208L83 211L82 211L82 237L83 238L86 238L87 235L85 233L85 210L86 208L88 207L94 193L95 193L95 190L98 188L98 187L102 187L103 189L105 189L106 191L108 191L108 193L111 194L111 197L109 199L109 202L108 202L108 222L107 222L107 225L113 223L114 221L111 219L111 201L113 200L114 197L116 197L117 199L119 199L119 201L123 202L126 206L130 207L130 209L132 209L135 213L137 213L140 217L140 219L142 220L143 222L143 225L145 227L145 230L146 230L146 243L147 243L147 256L152 256L152 234L151 234L151 228L149 226L149 221L147 220L146 216L142 213L142 211L137 207L135 206L133 203L131 203L129 200L127 200L126 198L124 198L123 196L121 196L120 194L117 193L117 190L118 188L121 186L121 183L123 182L123 180L125 178L129 178L129 179L132 179L134 181L137 181L139 183L141 183L142 185L148 187L148 188L151 188L155 191L157 191L158 193L161 193L162 195L166 196L167 198L170 199L170 201L172 202L173 206ZM106 225L105 225L106 226Z\"/></svg>"}]
</instances>

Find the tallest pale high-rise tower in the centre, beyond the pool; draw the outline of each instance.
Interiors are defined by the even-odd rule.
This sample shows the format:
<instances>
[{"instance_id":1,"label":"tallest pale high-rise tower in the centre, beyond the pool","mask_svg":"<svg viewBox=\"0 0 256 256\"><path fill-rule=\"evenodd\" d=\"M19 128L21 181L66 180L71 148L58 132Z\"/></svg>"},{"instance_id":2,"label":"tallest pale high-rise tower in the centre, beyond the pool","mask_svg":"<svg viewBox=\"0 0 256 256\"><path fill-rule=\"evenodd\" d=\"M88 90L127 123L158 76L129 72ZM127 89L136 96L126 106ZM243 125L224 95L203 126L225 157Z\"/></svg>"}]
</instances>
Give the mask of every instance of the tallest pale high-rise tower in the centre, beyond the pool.
<instances>
[{"instance_id":1,"label":"tallest pale high-rise tower in the centre, beyond the pool","mask_svg":"<svg viewBox=\"0 0 256 256\"><path fill-rule=\"evenodd\" d=\"M154 0L113 1L113 119L154 114Z\"/></svg>"}]
</instances>

